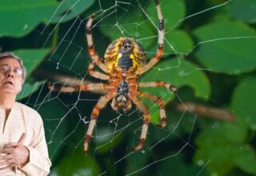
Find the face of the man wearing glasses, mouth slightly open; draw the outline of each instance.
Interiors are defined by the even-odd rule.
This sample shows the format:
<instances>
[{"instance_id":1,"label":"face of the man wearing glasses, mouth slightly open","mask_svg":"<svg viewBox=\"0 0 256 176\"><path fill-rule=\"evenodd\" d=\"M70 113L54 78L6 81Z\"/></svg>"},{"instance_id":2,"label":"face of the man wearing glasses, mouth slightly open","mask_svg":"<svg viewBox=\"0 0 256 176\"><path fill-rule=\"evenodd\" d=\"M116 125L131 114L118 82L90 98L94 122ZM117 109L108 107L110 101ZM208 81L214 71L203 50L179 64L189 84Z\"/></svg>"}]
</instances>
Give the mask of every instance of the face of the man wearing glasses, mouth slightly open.
<instances>
[{"instance_id":1,"label":"face of the man wearing glasses, mouth slightly open","mask_svg":"<svg viewBox=\"0 0 256 176\"><path fill-rule=\"evenodd\" d=\"M0 59L0 93L17 95L22 90L22 66L14 58Z\"/></svg>"}]
</instances>

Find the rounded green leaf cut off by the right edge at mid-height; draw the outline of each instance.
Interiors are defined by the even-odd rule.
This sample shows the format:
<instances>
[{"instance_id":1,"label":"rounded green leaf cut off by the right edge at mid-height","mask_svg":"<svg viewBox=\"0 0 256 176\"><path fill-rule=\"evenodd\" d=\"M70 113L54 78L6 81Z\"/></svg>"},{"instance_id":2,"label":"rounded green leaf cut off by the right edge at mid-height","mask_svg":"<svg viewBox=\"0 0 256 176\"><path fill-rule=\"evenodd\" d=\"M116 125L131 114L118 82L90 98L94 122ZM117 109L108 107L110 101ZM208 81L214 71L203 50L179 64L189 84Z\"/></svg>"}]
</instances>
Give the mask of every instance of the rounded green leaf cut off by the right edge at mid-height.
<instances>
[{"instance_id":1,"label":"rounded green leaf cut off by the right edge at mid-height","mask_svg":"<svg viewBox=\"0 0 256 176\"><path fill-rule=\"evenodd\" d=\"M234 114L252 130L256 130L255 90L256 81L246 78L235 88L231 102Z\"/></svg>"}]
</instances>

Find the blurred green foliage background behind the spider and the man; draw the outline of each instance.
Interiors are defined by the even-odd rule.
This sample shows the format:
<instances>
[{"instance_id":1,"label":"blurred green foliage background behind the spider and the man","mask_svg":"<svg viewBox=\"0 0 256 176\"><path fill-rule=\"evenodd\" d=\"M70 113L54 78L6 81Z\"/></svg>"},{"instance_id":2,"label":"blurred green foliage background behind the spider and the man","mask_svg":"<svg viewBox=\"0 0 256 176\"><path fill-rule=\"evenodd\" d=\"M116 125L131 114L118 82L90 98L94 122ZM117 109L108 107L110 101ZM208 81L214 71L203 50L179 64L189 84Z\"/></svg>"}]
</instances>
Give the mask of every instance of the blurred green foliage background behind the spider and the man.
<instances>
[{"instance_id":1,"label":"blurred green foliage background behind the spider and the man","mask_svg":"<svg viewBox=\"0 0 256 176\"><path fill-rule=\"evenodd\" d=\"M59 94L48 89L103 82L87 73L85 25L104 57L116 38L136 38L148 60L158 46L153 0L0 0L0 52L18 54L27 69L18 102L42 115L50 175L210 175L256 174L256 1L160 0L166 22L160 62L139 82L164 81L178 94L145 88L166 103L167 126L158 105L150 109L143 150L136 146L142 114L126 114L107 104L98 117L89 153L83 139L102 92Z\"/></svg>"}]
</instances>

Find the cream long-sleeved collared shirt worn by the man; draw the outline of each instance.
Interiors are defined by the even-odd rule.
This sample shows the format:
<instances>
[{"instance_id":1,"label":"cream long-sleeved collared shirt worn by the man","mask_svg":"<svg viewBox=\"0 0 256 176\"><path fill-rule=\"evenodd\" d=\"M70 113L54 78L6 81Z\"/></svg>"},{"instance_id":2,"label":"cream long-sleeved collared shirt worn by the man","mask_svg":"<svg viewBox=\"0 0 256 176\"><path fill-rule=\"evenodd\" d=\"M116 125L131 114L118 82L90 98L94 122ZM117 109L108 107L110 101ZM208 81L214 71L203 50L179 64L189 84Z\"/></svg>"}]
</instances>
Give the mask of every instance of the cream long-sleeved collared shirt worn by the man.
<instances>
[{"instance_id":1,"label":"cream long-sleeved collared shirt worn by the man","mask_svg":"<svg viewBox=\"0 0 256 176\"><path fill-rule=\"evenodd\" d=\"M26 137L22 144L30 151L29 162L25 166L0 170L0 175L47 175L50 172L50 158L46 145L42 118L36 110L15 102L8 118L0 108L0 150L9 142L18 142L22 134Z\"/></svg>"}]
</instances>

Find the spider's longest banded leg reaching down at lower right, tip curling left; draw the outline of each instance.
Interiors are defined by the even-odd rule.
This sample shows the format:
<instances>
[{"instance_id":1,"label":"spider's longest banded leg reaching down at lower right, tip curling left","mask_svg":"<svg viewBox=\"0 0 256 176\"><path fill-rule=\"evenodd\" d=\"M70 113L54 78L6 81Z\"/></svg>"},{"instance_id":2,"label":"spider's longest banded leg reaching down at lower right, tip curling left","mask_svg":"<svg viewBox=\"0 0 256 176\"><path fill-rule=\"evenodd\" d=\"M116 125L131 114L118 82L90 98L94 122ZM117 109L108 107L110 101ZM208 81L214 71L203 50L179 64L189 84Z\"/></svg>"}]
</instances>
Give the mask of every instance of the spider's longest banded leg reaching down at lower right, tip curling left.
<instances>
[{"instance_id":1,"label":"spider's longest banded leg reaching down at lower right, tip curling left","mask_svg":"<svg viewBox=\"0 0 256 176\"><path fill-rule=\"evenodd\" d=\"M132 150L138 151L142 149L146 141L146 134L147 134L147 130L150 123L150 113L149 113L149 110L146 108L146 106L141 101L139 101L138 98L132 95L130 95L129 98L131 99L132 102L134 102L134 104L138 107L138 110L141 111L144 116L140 141L138 143L138 146L135 146L134 148L132 148Z\"/></svg>"}]
</instances>

